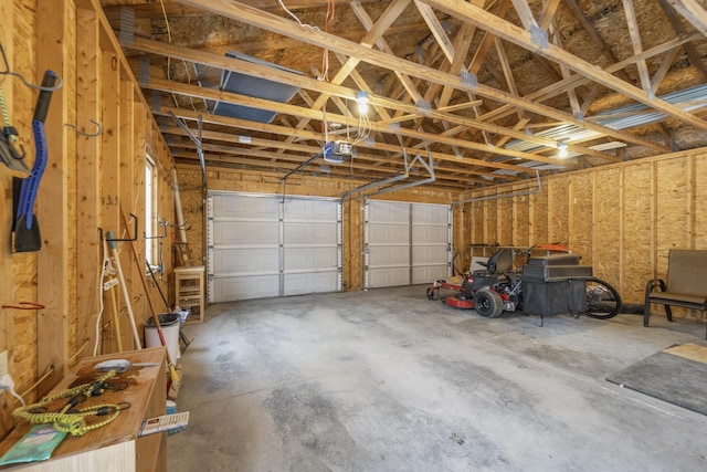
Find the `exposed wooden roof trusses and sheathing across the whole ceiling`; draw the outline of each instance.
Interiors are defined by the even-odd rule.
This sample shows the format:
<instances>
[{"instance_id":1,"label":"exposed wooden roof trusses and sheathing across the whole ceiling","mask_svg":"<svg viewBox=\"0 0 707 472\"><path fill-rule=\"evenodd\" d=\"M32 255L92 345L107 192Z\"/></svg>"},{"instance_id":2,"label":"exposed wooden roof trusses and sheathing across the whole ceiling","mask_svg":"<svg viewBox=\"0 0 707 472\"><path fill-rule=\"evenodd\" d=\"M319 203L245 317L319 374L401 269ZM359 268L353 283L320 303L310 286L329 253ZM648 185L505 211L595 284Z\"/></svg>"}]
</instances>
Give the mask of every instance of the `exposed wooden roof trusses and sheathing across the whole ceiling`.
<instances>
[{"instance_id":1,"label":"exposed wooden roof trusses and sheathing across the whole ceiling","mask_svg":"<svg viewBox=\"0 0 707 472\"><path fill-rule=\"evenodd\" d=\"M340 139L350 160L302 171L372 181L422 156L435 166L426 185L454 191L707 146L704 0L102 4L178 161L198 155L170 114L201 117L208 166L284 176ZM297 93L228 92L224 71Z\"/></svg>"}]
</instances>

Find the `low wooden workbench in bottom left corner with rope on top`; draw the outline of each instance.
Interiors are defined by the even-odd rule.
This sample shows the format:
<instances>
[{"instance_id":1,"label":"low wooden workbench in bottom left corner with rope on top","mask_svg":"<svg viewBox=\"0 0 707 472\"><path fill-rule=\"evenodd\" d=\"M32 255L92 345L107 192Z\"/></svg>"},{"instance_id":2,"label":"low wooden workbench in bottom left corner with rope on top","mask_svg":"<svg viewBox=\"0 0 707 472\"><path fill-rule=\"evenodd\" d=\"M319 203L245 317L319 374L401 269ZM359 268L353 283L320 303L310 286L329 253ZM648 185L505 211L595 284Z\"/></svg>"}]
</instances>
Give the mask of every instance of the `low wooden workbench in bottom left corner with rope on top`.
<instances>
[{"instance_id":1,"label":"low wooden workbench in bottom left corner with rope on top","mask_svg":"<svg viewBox=\"0 0 707 472\"><path fill-rule=\"evenodd\" d=\"M107 389L99 397L86 399L81 403L81 408L122 402L129 403L130 408L120 411L120 415L113 422L88 431L84 436L66 436L49 461L17 464L0 470L28 472L167 471L165 433L141 438L137 436L143 420L166 413L165 348L156 347L83 359L76 365L74 373L67 375L51 394L60 392L73 385L89 382L99 376L99 373L94 369L96 364L117 358L128 359L134 364L148 363L157 364L157 366L130 367L126 373L118 374L109 381L126 381L128 385L126 389L119 391ZM65 400L57 401L65 403ZM27 421L18 420L17 428L0 443L0 455L17 443L31 427Z\"/></svg>"}]
</instances>

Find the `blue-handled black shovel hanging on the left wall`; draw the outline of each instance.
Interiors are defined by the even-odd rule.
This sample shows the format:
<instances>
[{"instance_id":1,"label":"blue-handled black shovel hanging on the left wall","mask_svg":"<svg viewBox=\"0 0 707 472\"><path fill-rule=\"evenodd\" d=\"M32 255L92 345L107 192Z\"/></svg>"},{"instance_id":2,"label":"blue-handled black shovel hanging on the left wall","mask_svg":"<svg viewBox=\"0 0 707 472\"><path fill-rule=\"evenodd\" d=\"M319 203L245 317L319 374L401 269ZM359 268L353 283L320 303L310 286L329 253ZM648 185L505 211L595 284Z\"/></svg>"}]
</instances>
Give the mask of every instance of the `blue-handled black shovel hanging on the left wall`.
<instances>
[{"instance_id":1,"label":"blue-handled black shovel hanging on the left wall","mask_svg":"<svg viewBox=\"0 0 707 472\"><path fill-rule=\"evenodd\" d=\"M36 191L40 187L40 180L44 168L46 167L46 136L44 135L44 119L49 112L49 104L52 98L51 88L54 87L59 76L52 72L44 72L42 80L42 91L36 99L36 108L34 108L34 118L32 119L32 134L34 135L34 166L30 172L30 177L22 179L22 189L20 190L20 203L17 211L17 220L14 222L14 252L32 252L42 249L42 235L40 233L40 224L34 216L34 200Z\"/></svg>"}]
</instances>

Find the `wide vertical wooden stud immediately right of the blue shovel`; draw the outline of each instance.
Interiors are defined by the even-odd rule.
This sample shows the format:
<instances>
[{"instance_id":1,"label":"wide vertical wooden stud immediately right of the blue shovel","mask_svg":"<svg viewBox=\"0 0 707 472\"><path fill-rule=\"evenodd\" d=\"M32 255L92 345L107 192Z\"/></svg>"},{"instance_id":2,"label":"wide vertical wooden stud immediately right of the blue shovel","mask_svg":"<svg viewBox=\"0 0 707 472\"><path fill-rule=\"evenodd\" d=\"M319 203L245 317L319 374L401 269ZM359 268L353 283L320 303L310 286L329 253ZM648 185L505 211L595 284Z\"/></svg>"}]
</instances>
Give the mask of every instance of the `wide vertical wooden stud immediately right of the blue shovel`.
<instances>
[{"instance_id":1,"label":"wide vertical wooden stud immediately right of the blue shovel","mask_svg":"<svg viewBox=\"0 0 707 472\"><path fill-rule=\"evenodd\" d=\"M75 41L74 24L70 20L72 8L67 0L38 0L36 2L36 63L42 64L35 83L42 82L44 67L59 74L64 84L75 82L75 56L64 42ZM45 119L48 166L36 196L35 217L41 225L42 250L36 255L38 312L36 361L38 377L48 366L51 376L40 384L40 397L50 391L64 377L68 368L68 296L70 296L70 240L68 240L68 155L67 111L68 94L52 94Z\"/></svg>"}]
</instances>

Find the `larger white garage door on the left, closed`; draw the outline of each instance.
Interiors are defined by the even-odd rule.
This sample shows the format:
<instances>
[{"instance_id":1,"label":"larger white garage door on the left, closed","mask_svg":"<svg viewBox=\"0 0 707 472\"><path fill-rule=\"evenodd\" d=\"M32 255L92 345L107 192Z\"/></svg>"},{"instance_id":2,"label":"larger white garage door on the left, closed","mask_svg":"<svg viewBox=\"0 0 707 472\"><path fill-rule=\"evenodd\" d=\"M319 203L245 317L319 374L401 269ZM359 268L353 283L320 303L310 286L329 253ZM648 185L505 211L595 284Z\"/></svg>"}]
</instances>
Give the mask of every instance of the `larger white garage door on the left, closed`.
<instances>
[{"instance_id":1,"label":"larger white garage door on the left, closed","mask_svg":"<svg viewBox=\"0 0 707 472\"><path fill-rule=\"evenodd\" d=\"M209 302L341 290L338 200L210 192Z\"/></svg>"}]
</instances>

